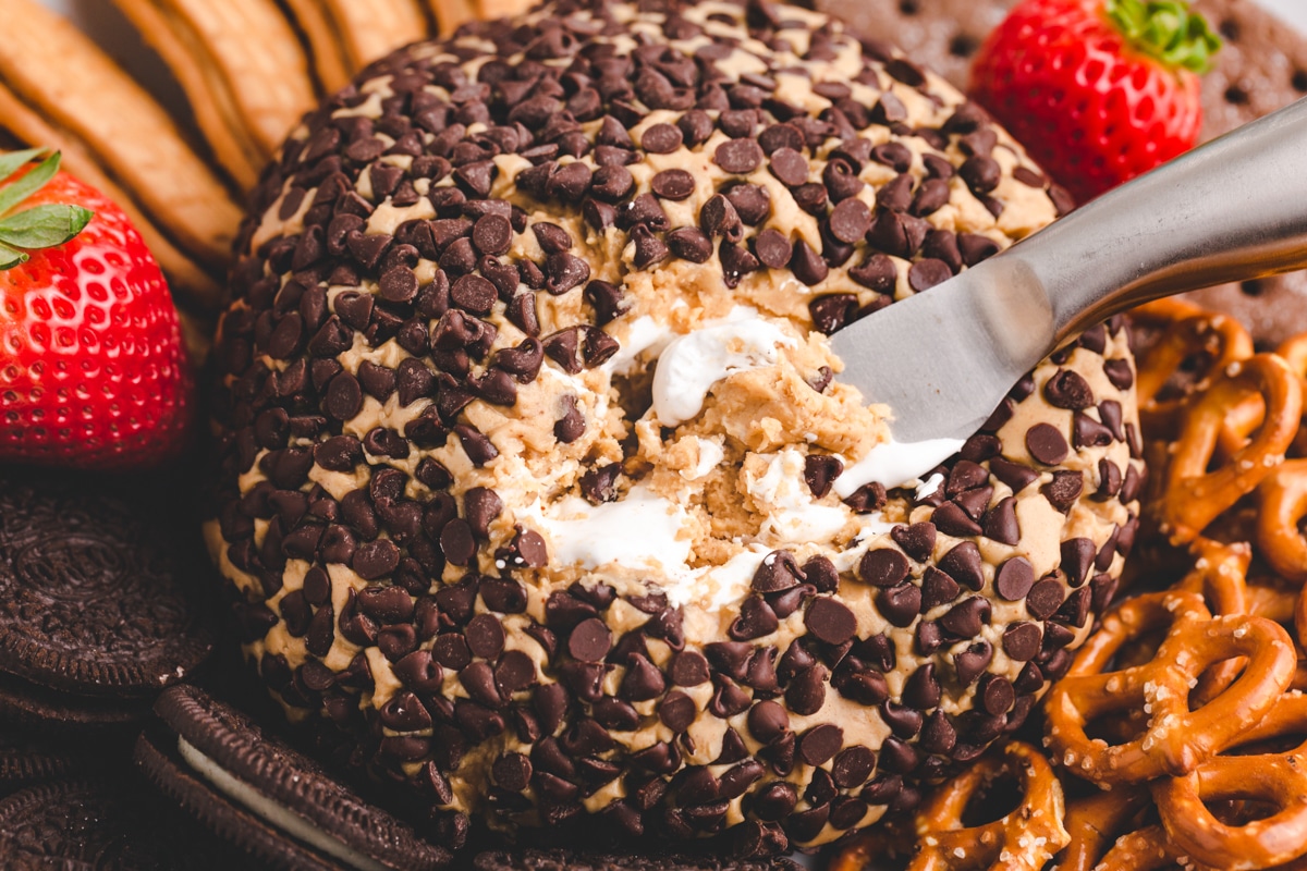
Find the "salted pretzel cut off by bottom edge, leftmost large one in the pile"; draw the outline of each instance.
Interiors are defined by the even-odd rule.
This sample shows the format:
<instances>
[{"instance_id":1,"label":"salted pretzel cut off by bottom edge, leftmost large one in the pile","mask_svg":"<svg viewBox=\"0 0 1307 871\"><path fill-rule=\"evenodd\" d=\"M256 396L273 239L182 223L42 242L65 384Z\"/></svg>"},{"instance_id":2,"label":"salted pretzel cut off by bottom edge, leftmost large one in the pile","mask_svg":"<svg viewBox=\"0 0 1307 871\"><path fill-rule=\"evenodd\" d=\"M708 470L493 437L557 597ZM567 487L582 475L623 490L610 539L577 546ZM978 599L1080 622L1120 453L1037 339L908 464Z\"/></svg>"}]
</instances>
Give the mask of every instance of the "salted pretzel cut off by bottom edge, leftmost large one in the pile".
<instances>
[{"instance_id":1,"label":"salted pretzel cut off by bottom edge, leftmost large one in the pile","mask_svg":"<svg viewBox=\"0 0 1307 871\"><path fill-rule=\"evenodd\" d=\"M965 827L967 803L1002 774L1021 784L1021 804L978 827ZM1013 742L946 782L916 815L919 851L908 871L1044 867L1070 836L1063 828L1061 784L1043 753Z\"/></svg>"}]
</instances>

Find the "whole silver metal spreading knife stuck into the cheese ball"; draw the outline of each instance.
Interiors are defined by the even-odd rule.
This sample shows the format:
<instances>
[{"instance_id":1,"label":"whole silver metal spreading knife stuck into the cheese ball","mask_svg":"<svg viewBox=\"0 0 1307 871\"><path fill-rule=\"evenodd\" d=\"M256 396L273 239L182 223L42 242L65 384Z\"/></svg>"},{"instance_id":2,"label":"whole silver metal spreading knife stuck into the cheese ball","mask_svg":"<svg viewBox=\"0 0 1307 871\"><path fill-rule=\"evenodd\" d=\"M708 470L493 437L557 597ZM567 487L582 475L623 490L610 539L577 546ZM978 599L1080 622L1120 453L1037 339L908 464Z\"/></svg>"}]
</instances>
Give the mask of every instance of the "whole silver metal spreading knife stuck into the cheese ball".
<instances>
[{"instance_id":1,"label":"whole silver metal spreading knife stuck into the cheese ball","mask_svg":"<svg viewBox=\"0 0 1307 871\"><path fill-rule=\"evenodd\" d=\"M1159 296L1307 268L1307 98L831 337L897 443L966 439L1084 329ZM949 453L945 451L945 453Z\"/></svg>"}]
</instances>

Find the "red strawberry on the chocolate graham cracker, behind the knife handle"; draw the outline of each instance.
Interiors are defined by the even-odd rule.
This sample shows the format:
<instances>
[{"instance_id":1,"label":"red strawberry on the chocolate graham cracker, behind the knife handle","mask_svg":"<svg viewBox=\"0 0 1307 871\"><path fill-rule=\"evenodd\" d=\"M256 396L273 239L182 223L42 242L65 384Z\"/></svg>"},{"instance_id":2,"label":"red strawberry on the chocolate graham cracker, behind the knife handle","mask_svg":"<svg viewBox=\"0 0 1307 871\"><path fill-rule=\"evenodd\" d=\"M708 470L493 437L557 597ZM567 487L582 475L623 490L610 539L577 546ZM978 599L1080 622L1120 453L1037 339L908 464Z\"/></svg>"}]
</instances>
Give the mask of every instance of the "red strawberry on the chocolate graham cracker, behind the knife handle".
<instances>
[{"instance_id":1,"label":"red strawberry on the chocolate graham cracker, behind the knife handle","mask_svg":"<svg viewBox=\"0 0 1307 871\"><path fill-rule=\"evenodd\" d=\"M1023 0L971 95L1081 202L1193 148L1221 42L1183 0Z\"/></svg>"}]
</instances>

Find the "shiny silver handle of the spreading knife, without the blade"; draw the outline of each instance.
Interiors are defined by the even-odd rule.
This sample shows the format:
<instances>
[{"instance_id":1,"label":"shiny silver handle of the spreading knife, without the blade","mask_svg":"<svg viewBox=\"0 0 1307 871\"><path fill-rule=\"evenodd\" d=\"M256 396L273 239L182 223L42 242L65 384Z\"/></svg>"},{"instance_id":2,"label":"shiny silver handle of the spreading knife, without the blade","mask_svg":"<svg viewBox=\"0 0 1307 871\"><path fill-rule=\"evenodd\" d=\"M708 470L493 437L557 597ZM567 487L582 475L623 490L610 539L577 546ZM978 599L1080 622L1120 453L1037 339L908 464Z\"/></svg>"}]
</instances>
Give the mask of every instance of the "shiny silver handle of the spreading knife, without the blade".
<instances>
[{"instance_id":1,"label":"shiny silver handle of the spreading knife, without the blade","mask_svg":"<svg viewBox=\"0 0 1307 871\"><path fill-rule=\"evenodd\" d=\"M1307 268L1307 98L1090 201L1008 256L1044 287L1053 347L1159 296Z\"/></svg>"}]
</instances>

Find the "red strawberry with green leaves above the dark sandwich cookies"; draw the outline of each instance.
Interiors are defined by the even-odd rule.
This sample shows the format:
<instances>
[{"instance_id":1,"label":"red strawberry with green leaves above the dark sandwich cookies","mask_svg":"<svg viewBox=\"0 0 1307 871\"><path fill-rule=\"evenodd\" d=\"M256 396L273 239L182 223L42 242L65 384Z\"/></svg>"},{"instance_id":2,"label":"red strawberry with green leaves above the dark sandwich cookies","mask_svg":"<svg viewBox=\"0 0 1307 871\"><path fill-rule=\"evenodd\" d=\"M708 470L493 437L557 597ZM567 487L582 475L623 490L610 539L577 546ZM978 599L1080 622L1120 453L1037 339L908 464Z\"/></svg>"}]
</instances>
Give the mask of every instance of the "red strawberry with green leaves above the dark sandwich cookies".
<instances>
[{"instance_id":1,"label":"red strawberry with green leaves above the dark sandwich cookies","mask_svg":"<svg viewBox=\"0 0 1307 871\"><path fill-rule=\"evenodd\" d=\"M0 154L0 461L156 465L193 389L163 274L122 209L38 155Z\"/></svg>"}]
</instances>

